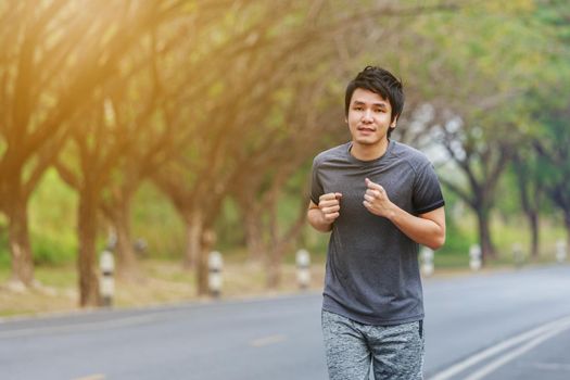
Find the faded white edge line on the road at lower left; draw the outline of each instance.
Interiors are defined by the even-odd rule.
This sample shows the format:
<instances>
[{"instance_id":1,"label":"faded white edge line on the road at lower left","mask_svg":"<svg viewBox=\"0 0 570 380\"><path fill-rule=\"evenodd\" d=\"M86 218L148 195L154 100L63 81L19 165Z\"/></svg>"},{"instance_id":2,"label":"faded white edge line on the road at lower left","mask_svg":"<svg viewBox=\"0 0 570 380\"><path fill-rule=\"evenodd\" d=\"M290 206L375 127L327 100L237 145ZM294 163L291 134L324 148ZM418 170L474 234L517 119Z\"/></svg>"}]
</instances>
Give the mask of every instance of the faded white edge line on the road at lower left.
<instances>
[{"instance_id":1,"label":"faded white edge line on the road at lower left","mask_svg":"<svg viewBox=\"0 0 570 380\"><path fill-rule=\"evenodd\" d=\"M126 327L126 326L145 324L145 322L149 322L155 319L156 319L156 315L145 315L145 316L138 316L138 317L127 317L127 318L113 319L113 320L73 324L73 325L65 325L65 326L46 326L46 327L35 327L35 328L20 329L20 330L7 330L7 331L0 331L0 339L38 335L38 334L50 334L50 333L60 333L60 332L81 332L81 331L104 330L104 329L121 328L121 327Z\"/></svg>"}]
</instances>

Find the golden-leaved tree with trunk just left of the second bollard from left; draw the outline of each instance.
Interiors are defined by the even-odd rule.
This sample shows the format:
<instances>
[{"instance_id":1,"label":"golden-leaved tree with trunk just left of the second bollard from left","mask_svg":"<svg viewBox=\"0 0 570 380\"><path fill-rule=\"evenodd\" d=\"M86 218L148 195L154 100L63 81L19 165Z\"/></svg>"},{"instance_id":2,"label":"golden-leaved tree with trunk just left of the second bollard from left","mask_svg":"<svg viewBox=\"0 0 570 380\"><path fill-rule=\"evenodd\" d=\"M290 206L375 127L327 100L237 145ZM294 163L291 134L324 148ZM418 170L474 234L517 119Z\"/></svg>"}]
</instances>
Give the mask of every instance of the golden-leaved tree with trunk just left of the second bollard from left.
<instances>
[{"instance_id":1,"label":"golden-leaved tree with trunk just left of the second bollard from left","mask_svg":"<svg viewBox=\"0 0 570 380\"><path fill-rule=\"evenodd\" d=\"M280 7L287 15L291 4ZM267 65L273 50L269 42L275 38L271 28L281 18L259 17L258 12L265 15L275 9L252 3L240 10L242 24L212 24L206 29L206 38L214 30L218 40L223 36L221 42L204 45L207 49L194 53L180 76L181 83L192 86L180 86L172 97L178 111L172 122L186 124L186 132L178 137L181 143L174 160L152 174L187 224L186 263L197 268L200 294L207 292L207 248L203 243L212 241L206 237L212 236L227 182L239 167L240 143L259 131L257 124L267 104L264 98L271 86L287 78L282 73L269 75L276 67ZM228 14L233 21L236 15Z\"/></svg>"}]
</instances>

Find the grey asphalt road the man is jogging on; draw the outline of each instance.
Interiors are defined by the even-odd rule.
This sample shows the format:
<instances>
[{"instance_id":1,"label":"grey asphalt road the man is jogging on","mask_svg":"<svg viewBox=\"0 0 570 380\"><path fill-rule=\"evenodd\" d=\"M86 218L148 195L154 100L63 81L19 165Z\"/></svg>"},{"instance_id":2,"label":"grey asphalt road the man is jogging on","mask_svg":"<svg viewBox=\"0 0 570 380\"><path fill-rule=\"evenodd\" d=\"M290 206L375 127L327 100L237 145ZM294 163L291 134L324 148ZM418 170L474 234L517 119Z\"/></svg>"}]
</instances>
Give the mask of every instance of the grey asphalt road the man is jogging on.
<instances>
[{"instance_id":1,"label":"grey asphalt road the man is jogging on","mask_svg":"<svg viewBox=\"0 0 570 380\"><path fill-rule=\"evenodd\" d=\"M426 378L570 379L570 266L428 279ZM327 379L320 294L4 320L0 379Z\"/></svg>"}]
</instances>

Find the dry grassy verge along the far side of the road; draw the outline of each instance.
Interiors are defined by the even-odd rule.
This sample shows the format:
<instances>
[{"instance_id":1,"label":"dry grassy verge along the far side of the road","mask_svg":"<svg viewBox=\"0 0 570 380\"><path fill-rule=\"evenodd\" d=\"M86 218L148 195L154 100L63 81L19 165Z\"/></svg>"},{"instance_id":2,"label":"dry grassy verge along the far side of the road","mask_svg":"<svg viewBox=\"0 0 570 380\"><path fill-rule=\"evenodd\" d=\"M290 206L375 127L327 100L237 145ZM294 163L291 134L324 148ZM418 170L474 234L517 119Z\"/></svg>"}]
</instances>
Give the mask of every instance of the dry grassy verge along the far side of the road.
<instances>
[{"instance_id":1,"label":"dry grassy verge along the far side of the road","mask_svg":"<svg viewBox=\"0 0 570 380\"><path fill-rule=\"evenodd\" d=\"M435 256L435 273L430 279L470 276L468 258L457 265L457 257L448 261ZM439 263L439 264L438 264ZM539 262L525 263L524 267L554 263L545 257ZM177 261L143 259L140 262L141 279L136 281L116 280L114 306L119 308L140 307L161 304L175 304L189 301L205 301L195 295L195 278L192 271L185 270ZM478 274L517 270L512 262L504 258L491 263ZM77 274L74 265L37 267L37 286L25 292L7 287L9 269L0 267L0 318L29 316L46 313L67 313L79 311L77 294ZM311 267L311 291L322 289L325 264L316 262ZM282 281L278 289L268 290L265 286L265 270L258 263L229 261L224 269L221 297L233 300L249 296L276 295L300 292L296 284L295 266L282 266Z\"/></svg>"}]
</instances>

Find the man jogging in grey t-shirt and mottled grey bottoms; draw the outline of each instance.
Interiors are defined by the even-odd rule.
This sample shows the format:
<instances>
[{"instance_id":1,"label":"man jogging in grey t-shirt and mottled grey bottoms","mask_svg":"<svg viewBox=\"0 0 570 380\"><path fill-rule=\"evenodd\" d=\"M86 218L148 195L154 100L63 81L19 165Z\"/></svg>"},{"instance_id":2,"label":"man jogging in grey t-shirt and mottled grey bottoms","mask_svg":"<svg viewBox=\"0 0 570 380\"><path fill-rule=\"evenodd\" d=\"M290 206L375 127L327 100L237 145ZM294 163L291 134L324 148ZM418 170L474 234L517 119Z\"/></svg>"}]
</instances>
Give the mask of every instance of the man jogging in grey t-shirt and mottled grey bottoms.
<instances>
[{"instance_id":1,"label":"man jogging in grey t-shirt and mottled grey bottoms","mask_svg":"<svg viewBox=\"0 0 570 380\"><path fill-rule=\"evenodd\" d=\"M445 241L444 200L428 159L390 139L402 84L366 67L345 94L352 141L313 163L309 224L331 231L322 302L330 379L422 379L419 244Z\"/></svg>"}]
</instances>

